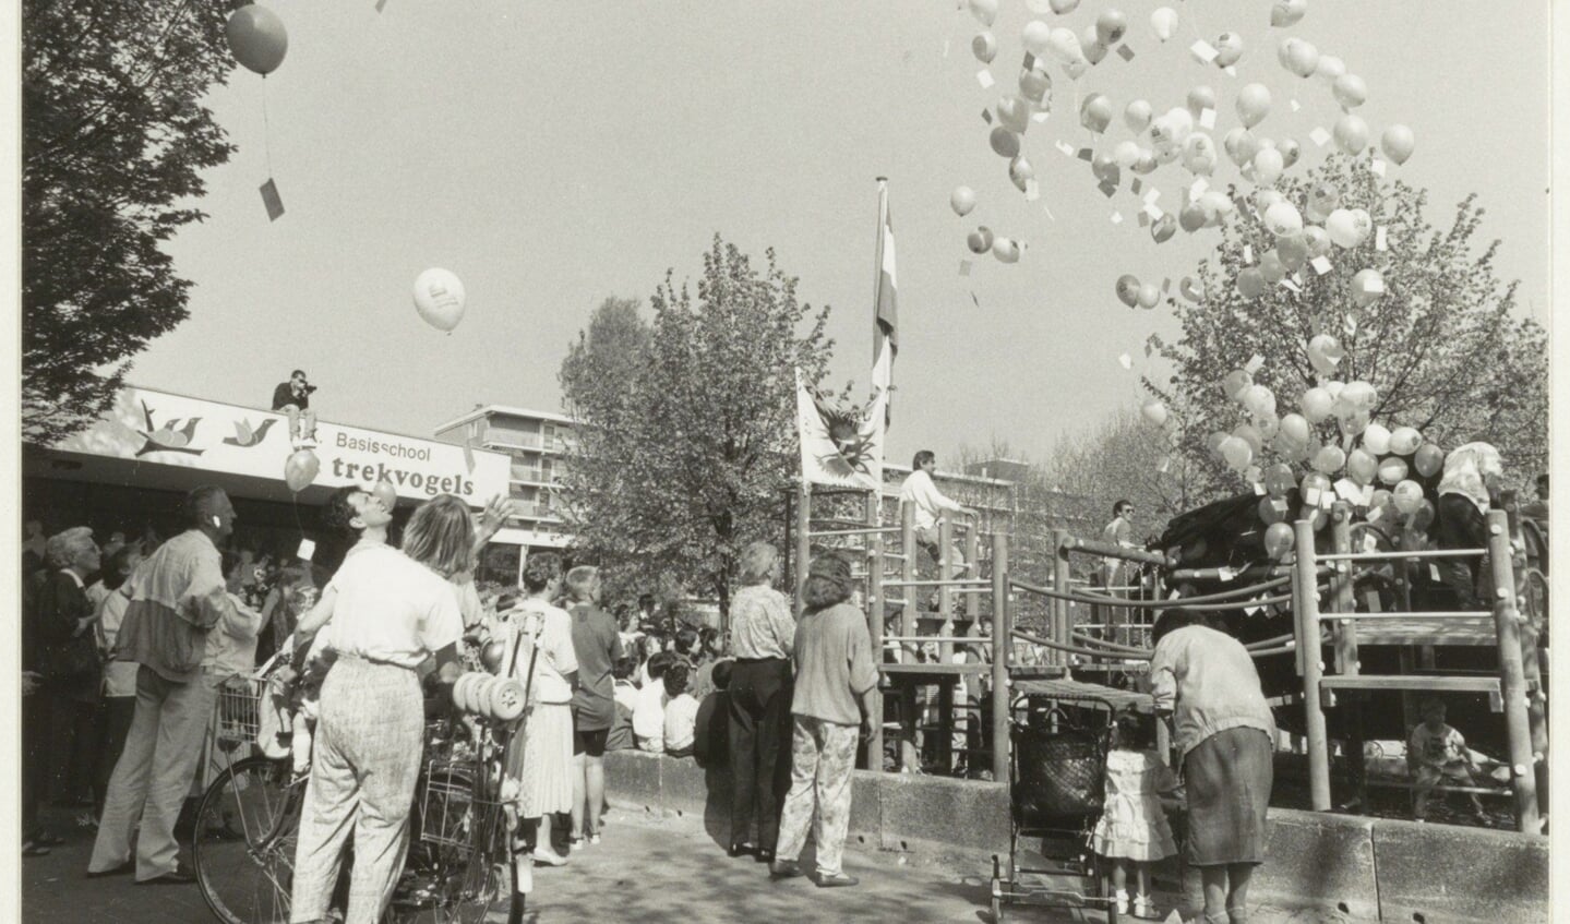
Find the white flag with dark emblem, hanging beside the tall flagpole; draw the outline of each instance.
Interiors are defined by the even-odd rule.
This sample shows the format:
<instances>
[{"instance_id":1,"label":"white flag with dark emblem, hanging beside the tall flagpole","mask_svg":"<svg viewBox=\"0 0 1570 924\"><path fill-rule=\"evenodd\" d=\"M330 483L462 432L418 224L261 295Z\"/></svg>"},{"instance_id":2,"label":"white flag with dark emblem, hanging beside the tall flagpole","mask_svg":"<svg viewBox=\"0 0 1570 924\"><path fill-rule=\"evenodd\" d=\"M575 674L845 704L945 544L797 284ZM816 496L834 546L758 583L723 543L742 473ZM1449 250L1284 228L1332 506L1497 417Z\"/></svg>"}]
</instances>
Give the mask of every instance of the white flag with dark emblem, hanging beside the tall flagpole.
<instances>
[{"instance_id":1,"label":"white flag with dark emblem, hanging beside the tall flagpole","mask_svg":"<svg viewBox=\"0 0 1570 924\"><path fill-rule=\"evenodd\" d=\"M887 391L879 391L865 408L837 408L815 395L798 369L796 435L801 438L802 480L834 488L882 488L887 409Z\"/></svg>"}]
</instances>

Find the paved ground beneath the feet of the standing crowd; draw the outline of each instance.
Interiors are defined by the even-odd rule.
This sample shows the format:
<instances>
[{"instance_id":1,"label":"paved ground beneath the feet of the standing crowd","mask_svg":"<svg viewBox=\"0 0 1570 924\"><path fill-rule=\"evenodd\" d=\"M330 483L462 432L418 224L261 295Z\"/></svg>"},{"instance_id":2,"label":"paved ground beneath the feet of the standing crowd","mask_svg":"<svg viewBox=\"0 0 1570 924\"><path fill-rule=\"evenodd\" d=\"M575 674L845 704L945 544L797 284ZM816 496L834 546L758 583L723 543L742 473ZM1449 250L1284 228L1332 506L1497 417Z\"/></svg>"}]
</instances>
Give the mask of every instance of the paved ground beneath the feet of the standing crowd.
<instances>
[{"instance_id":1,"label":"paved ground beneath the feet of the standing crowd","mask_svg":"<svg viewBox=\"0 0 1570 924\"><path fill-rule=\"evenodd\" d=\"M52 817L57 831L66 816ZM30 924L166 924L214 921L196 886L135 886L127 879L86 880L89 833L22 864L22 921ZM810 849L809 849L810 852ZM688 819L656 819L623 809L608 817L604 841L560 869L539 868L531 921L590 924L893 921L989 922L986 872L911 868L893 853L846 852L845 868L862 885L820 889L805 879L769 882L750 858L730 860ZM969 875L966 875L969 872ZM1162 900L1170 908L1173 896ZM1008 921L1101 922L1104 915L1064 908L1011 908ZM1322 924L1325 918L1259 910L1253 924Z\"/></svg>"}]
</instances>

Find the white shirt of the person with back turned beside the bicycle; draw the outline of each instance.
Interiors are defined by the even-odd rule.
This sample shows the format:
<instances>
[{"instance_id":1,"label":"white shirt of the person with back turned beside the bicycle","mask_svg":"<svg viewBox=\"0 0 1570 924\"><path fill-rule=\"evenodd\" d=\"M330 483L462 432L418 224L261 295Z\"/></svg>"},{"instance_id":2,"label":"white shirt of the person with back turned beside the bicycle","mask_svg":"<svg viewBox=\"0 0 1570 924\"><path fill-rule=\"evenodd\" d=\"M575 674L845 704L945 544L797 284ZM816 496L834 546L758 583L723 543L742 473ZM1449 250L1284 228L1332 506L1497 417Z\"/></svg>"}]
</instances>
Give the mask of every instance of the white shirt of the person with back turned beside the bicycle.
<instances>
[{"instance_id":1,"label":"white shirt of the person with back turned beside the bicycle","mask_svg":"<svg viewBox=\"0 0 1570 924\"><path fill-rule=\"evenodd\" d=\"M327 588L341 654L413 670L463 635L452 585L392 546L356 546Z\"/></svg>"}]
</instances>

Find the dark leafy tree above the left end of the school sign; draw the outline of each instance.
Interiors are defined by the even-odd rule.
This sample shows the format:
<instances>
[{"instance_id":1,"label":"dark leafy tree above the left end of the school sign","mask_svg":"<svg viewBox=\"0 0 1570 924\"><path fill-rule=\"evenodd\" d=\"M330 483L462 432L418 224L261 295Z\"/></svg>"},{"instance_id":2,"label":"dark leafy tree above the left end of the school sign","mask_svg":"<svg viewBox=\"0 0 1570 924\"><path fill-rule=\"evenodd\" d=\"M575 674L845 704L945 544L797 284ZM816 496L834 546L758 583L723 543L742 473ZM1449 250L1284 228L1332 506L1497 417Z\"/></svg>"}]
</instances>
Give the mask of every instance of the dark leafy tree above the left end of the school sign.
<instances>
[{"instance_id":1,"label":"dark leafy tree above the left end of the school sign","mask_svg":"<svg viewBox=\"0 0 1570 924\"><path fill-rule=\"evenodd\" d=\"M187 317L160 249L234 147L199 100L232 67L226 5L22 3L22 433L89 425L129 358Z\"/></svg>"}]
</instances>

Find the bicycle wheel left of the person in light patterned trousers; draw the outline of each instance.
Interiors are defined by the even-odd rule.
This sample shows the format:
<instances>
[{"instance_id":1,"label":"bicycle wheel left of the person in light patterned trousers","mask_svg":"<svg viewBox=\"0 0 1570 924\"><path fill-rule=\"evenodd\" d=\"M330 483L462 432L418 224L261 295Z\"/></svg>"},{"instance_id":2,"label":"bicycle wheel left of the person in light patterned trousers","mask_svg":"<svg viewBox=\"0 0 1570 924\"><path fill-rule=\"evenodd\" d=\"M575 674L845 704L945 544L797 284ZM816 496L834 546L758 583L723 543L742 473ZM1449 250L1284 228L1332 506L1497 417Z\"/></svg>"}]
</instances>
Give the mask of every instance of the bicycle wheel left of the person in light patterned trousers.
<instances>
[{"instance_id":1,"label":"bicycle wheel left of the person in light patterned trousers","mask_svg":"<svg viewBox=\"0 0 1570 924\"><path fill-rule=\"evenodd\" d=\"M196 809L192 858L207 907L226 924L287 924L305 783L289 764L250 758L225 770Z\"/></svg>"}]
</instances>

